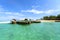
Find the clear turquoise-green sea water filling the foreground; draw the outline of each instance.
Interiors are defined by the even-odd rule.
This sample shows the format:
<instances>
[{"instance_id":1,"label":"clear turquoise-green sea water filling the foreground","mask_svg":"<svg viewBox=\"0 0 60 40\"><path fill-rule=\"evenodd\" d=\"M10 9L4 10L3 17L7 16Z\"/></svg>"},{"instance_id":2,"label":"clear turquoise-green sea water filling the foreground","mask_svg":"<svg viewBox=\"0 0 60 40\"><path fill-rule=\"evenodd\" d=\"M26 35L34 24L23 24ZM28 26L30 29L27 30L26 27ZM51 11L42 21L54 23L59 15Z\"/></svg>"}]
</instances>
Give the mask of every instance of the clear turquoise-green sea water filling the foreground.
<instances>
[{"instance_id":1,"label":"clear turquoise-green sea water filling the foreground","mask_svg":"<svg viewBox=\"0 0 60 40\"><path fill-rule=\"evenodd\" d=\"M0 24L0 40L60 40L60 22Z\"/></svg>"}]
</instances>

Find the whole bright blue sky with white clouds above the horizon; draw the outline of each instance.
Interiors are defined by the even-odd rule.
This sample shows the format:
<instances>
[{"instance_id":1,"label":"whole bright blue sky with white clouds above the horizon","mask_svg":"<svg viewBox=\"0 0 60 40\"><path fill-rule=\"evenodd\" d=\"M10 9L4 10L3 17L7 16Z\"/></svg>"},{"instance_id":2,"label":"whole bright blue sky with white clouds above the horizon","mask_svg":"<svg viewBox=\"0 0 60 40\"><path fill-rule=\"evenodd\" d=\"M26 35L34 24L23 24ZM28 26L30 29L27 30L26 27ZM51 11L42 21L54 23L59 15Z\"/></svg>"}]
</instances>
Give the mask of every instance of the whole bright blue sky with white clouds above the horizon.
<instances>
[{"instance_id":1,"label":"whole bright blue sky with white clouds above the horizon","mask_svg":"<svg viewBox=\"0 0 60 40\"><path fill-rule=\"evenodd\" d=\"M0 20L39 19L60 14L60 0L0 0Z\"/></svg>"}]
</instances>

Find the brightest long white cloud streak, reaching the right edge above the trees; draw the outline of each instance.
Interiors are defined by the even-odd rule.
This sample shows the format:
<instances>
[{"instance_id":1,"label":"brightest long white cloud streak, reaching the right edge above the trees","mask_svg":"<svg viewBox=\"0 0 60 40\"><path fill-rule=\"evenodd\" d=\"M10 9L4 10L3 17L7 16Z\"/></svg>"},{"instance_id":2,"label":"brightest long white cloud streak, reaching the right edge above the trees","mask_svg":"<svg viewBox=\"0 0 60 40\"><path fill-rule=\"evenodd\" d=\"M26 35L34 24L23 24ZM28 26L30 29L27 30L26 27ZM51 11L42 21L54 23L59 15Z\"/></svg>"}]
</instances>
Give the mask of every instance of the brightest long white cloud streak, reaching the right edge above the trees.
<instances>
[{"instance_id":1,"label":"brightest long white cloud streak, reaching the right edge above the trees","mask_svg":"<svg viewBox=\"0 0 60 40\"><path fill-rule=\"evenodd\" d=\"M59 12L60 10L45 10L45 11L40 11L40 10L35 10L35 9L32 9L32 10L22 10L21 12L31 12L31 13L34 13L34 14L53 14L53 13L56 13L56 12Z\"/></svg>"}]
</instances>

